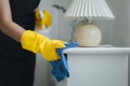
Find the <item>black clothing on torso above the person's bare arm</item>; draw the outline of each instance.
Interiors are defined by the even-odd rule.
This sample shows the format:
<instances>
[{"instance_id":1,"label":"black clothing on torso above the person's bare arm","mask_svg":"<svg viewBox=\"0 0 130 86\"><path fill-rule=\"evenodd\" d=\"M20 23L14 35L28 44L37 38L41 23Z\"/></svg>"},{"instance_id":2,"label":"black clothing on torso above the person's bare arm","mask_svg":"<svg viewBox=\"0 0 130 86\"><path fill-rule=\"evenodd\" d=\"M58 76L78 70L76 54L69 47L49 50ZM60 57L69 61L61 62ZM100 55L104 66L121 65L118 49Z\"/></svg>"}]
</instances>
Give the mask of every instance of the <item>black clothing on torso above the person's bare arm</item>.
<instances>
[{"instance_id":1,"label":"black clothing on torso above the person's bare arm","mask_svg":"<svg viewBox=\"0 0 130 86\"><path fill-rule=\"evenodd\" d=\"M35 9L39 2L40 0L10 0L13 20L25 29L28 28L27 25L34 25Z\"/></svg>"}]
</instances>

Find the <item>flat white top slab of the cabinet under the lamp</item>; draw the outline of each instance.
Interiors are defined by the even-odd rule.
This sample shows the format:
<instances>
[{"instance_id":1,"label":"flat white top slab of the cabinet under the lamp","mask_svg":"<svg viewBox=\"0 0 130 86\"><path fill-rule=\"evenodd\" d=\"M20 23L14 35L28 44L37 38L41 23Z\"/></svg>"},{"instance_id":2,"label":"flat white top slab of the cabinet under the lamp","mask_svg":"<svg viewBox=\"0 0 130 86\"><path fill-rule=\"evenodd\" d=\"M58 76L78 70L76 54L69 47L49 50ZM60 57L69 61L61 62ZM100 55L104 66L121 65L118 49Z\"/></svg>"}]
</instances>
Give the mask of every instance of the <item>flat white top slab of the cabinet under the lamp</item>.
<instances>
[{"instance_id":1,"label":"flat white top slab of the cabinet under the lamp","mask_svg":"<svg viewBox=\"0 0 130 86\"><path fill-rule=\"evenodd\" d=\"M67 54L128 54L130 47L74 47L64 51Z\"/></svg>"}]
</instances>

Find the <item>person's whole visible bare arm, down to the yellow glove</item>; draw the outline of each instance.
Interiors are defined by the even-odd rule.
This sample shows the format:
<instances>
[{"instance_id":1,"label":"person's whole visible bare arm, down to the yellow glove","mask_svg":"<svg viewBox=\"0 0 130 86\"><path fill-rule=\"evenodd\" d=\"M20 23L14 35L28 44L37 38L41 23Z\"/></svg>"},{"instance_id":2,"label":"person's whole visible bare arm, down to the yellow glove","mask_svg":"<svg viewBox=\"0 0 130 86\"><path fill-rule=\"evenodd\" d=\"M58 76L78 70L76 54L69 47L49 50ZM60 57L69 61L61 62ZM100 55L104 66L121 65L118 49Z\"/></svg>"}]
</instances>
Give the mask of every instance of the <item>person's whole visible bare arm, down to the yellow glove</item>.
<instances>
[{"instance_id":1,"label":"person's whole visible bare arm, down to the yellow glove","mask_svg":"<svg viewBox=\"0 0 130 86\"><path fill-rule=\"evenodd\" d=\"M9 0L0 0L0 30L17 42L21 42L21 37L25 31L13 22Z\"/></svg>"}]
</instances>

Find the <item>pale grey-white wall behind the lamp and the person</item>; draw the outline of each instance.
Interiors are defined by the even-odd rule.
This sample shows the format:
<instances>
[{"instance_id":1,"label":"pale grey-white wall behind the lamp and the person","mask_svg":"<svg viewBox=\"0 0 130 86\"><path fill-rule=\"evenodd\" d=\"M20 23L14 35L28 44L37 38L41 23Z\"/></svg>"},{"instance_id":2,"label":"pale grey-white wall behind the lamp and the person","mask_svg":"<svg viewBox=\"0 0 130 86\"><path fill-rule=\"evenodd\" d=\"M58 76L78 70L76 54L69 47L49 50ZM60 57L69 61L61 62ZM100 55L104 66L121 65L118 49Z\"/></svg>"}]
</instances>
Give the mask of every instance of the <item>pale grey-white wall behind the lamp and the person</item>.
<instances>
[{"instance_id":1,"label":"pale grey-white wall behind the lamp and the person","mask_svg":"<svg viewBox=\"0 0 130 86\"><path fill-rule=\"evenodd\" d=\"M72 27L70 19L63 17L64 13L53 4L58 4L68 8L72 0L41 0L40 9L49 10L53 17L51 30L46 32L52 39L61 39L69 41ZM108 6L115 15L113 20L94 20L102 31L103 40L101 44L112 44L114 46L130 46L130 0L106 0ZM44 34L44 31L41 33ZM48 63L40 55L37 58L36 81L35 86L51 86L49 83Z\"/></svg>"}]
</instances>

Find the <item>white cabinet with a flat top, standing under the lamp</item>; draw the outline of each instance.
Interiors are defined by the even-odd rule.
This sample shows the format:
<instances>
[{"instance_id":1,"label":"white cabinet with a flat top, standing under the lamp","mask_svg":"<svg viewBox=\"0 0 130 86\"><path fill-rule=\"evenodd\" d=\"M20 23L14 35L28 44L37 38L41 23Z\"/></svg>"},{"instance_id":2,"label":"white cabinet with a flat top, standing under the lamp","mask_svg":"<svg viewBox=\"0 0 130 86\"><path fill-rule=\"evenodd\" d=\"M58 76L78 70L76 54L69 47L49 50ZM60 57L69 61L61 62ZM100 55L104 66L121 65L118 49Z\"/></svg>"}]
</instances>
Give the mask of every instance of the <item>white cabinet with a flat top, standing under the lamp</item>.
<instances>
[{"instance_id":1,"label":"white cabinet with a flat top, standing under the lamp","mask_svg":"<svg viewBox=\"0 0 130 86\"><path fill-rule=\"evenodd\" d=\"M67 53L67 86L128 86L126 47L75 47Z\"/></svg>"}]
</instances>

